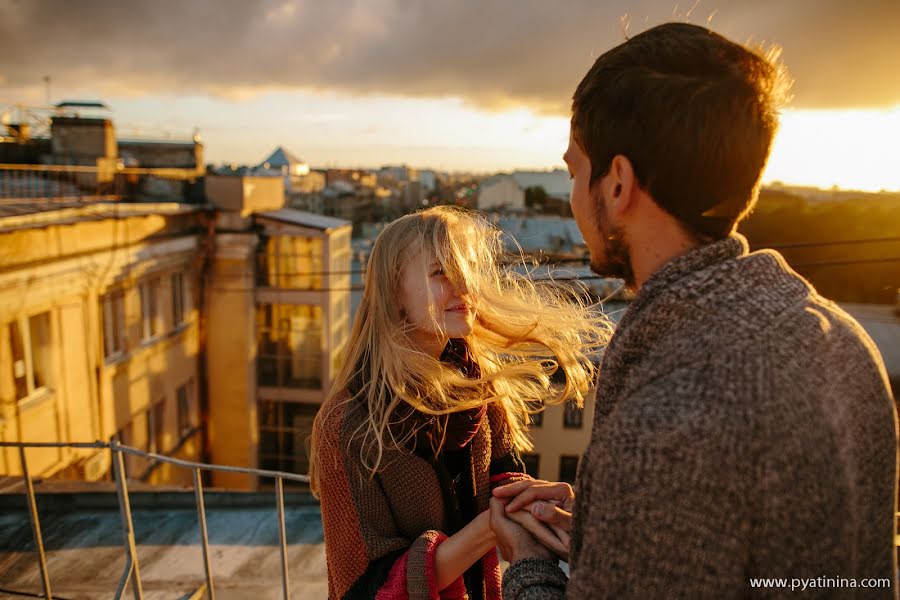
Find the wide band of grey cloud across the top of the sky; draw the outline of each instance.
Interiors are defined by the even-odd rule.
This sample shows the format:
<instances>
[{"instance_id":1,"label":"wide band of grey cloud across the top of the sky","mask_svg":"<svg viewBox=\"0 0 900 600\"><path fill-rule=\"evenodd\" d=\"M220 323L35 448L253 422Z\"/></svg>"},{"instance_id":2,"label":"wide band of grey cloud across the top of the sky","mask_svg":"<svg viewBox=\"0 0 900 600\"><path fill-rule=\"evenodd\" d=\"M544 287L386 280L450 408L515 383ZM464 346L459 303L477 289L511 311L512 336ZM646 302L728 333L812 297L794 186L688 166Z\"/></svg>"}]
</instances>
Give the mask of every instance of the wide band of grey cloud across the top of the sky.
<instances>
[{"instance_id":1,"label":"wide band of grey cloud across the top of the sky","mask_svg":"<svg viewBox=\"0 0 900 600\"><path fill-rule=\"evenodd\" d=\"M897 0L0 0L0 96L50 75L103 93L306 89L566 114L623 21L633 34L710 15L733 39L783 47L795 106L900 103Z\"/></svg>"}]
</instances>

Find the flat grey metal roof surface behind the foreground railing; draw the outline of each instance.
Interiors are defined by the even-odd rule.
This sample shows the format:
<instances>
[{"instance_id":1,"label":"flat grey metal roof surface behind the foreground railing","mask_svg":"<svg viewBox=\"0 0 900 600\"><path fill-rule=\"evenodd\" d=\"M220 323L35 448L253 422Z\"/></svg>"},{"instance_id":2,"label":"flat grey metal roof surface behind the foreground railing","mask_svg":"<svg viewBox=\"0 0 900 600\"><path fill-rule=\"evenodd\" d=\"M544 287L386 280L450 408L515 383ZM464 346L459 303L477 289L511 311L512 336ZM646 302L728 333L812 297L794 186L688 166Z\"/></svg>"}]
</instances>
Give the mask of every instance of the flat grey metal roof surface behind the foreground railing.
<instances>
[{"instance_id":1,"label":"flat grey metal roof surface behind the foreground railing","mask_svg":"<svg viewBox=\"0 0 900 600\"><path fill-rule=\"evenodd\" d=\"M130 485L144 598L190 597L205 582L193 492ZM115 484L35 487L54 598L113 597L126 556ZM0 596L42 591L21 488L0 494ZM216 597L282 598L274 494L206 490L204 496ZM291 597L326 597L321 513L308 494L285 494L285 532Z\"/></svg>"}]
</instances>

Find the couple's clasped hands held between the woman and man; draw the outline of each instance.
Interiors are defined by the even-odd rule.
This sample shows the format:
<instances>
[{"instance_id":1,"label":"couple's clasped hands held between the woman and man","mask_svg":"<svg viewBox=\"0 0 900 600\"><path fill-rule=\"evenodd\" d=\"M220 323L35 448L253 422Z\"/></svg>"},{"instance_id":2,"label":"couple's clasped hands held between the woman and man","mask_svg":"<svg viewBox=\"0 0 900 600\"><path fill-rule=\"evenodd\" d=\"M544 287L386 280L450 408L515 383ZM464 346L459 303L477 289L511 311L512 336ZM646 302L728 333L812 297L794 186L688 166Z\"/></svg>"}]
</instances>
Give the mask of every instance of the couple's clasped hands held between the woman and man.
<instances>
[{"instance_id":1,"label":"couple's clasped hands held between the woman and man","mask_svg":"<svg viewBox=\"0 0 900 600\"><path fill-rule=\"evenodd\" d=\"M568 561L574 503L568 483L526 479L495 488L490 526L500 554L510 563L525 558Z\"/></svg>"}]
</instances>

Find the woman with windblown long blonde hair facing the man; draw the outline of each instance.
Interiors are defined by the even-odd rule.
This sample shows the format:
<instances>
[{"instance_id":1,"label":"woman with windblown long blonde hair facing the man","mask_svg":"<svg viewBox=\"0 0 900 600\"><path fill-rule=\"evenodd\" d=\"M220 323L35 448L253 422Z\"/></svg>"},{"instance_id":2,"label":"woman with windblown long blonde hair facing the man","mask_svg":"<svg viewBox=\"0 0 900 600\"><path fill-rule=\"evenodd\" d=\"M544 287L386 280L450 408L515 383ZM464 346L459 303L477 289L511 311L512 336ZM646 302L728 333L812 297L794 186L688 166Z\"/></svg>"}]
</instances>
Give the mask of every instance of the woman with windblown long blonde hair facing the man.
<instances>
[{"instance_id":1,"label":"woman with windblown long blonde hair facing the man","mask_svg":"<svg viewBox=\"0 0 900 600\"><path fill-rule=\"evenodd\" d=\"M331 598L500 597L491 487L527 477L529 409L581 402L608 337L570 289L502 254L498 229L450 207L375 242L312 435Z\"/></svg>"}]
</instances>

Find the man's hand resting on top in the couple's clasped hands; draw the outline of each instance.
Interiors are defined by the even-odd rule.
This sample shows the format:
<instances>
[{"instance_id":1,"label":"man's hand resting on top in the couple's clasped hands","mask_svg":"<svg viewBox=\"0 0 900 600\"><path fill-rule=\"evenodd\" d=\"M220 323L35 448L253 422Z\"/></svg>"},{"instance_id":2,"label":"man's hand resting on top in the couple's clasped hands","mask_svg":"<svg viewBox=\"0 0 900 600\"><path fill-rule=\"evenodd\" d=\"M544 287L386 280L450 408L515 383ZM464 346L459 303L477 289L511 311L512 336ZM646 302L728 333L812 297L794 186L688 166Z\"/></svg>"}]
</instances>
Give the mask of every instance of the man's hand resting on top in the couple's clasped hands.
<instances>
[{"instance_id":1,"label":"man's hand resting on top in the couple's clasped hands","mask_svg":"<svg viewBox=\"0 0 900 600\"><path fill-rule=\"evenodd\" d=\"M538 540L551 548L563 560L569 559L569 534L572 530L572 507L575 494L568 483L551 483L549 481L525 480L517 481L494 489L494 497L506 502L506 512L517 522L525 526ZM547 528L536 528L527 520L513 515L521 515L523 511L530 513ZM545 535L546 533L551 533Z\"/></svg>"}]
</instances>

